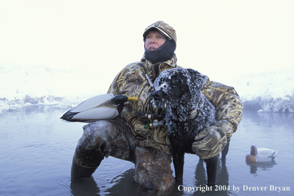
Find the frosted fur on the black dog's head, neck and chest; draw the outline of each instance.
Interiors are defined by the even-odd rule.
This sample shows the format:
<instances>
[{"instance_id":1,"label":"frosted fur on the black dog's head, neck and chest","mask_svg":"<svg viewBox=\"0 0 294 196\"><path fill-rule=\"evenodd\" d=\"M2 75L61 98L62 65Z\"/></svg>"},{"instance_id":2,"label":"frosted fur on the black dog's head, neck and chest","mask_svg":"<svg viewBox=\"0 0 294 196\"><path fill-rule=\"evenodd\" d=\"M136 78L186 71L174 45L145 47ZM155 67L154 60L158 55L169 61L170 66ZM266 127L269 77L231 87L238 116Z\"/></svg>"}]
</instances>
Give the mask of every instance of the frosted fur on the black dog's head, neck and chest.
<instances>
[{"instance_id":1,"label":"frosted fur on the black dog's head, neck and chest","mask_svg":"<svg viewBox=\"0 0 294 196\"><path fill-rule=\"evenodd\" d=\"M178 82L175 82L175 79ZM162 96L154 99L155 105L166 108L166 123L169 134L175 134L173 121L184 122L187 116L197 108L197 115L190 123L194 129L185 127L186 132L199 133L204 128L216 123L215 107L205 98L201 88L207 81L207 76L193 69L175 68L163 71L155 81L155 90Z\"/></svg>"}]
</instances>

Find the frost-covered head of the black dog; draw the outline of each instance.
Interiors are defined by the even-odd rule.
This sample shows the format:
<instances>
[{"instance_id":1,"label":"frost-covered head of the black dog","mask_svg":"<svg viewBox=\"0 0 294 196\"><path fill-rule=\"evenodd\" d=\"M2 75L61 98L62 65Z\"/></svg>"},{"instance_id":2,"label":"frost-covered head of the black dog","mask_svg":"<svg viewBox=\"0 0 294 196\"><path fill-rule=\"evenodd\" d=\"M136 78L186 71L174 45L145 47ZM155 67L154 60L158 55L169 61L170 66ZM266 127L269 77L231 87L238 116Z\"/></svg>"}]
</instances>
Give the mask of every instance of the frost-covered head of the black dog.
<instances>
[{"instance_id":1,"label":"frost-covered head of the black dog","mask_svg":"<svg viewBox=\"0 0 294 196\"><path fill-rule=\"evenodd\" d=\"M162 108L189 104L207 81L207 76L193 69L174 68L163 71L155 80L154 103Z\"/></svg>"}]
</instances>

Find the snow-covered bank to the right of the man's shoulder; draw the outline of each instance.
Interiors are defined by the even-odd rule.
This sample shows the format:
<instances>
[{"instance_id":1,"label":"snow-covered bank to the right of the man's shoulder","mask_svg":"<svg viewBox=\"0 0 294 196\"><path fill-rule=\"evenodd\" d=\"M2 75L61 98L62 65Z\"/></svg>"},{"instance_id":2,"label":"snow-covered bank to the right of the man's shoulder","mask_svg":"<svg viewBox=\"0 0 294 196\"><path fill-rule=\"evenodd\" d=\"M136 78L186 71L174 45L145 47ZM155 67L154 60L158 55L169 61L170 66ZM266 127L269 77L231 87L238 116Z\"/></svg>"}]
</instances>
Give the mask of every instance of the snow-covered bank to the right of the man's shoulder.
<instances>
[{"instance_id":1,"label":"snow-covered bank to the right of the man's shoulder","mask_svg":"<svg viewBox=\"0 0 294 196\"><path fill-rule=\"evenodd\" d=\"M294 112L294 69L256 73L224 80L233 86L244 108L259 112Z\"/></svg>"}]
</instances>

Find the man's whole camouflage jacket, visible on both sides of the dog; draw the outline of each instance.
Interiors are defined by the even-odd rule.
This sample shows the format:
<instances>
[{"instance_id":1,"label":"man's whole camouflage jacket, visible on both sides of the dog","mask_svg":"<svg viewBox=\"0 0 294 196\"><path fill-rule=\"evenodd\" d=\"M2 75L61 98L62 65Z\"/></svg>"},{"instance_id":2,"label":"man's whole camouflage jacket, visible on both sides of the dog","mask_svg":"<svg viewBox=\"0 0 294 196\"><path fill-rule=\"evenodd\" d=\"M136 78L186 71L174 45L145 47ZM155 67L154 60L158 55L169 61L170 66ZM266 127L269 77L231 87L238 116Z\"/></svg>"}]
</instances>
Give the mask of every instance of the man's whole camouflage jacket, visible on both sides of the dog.
<instances>
[{"instance_id":1,"label":"man's whole camouflage jacket, visible on both sides of the dog","mask_svg":"<svg viewBox=\"0 0 294 196\"><path fill-rule=\"evenodd\" d=\"M159 76L165 69L178 67L176 65L176 54L163 63L151 64L144 57L140 62L130 63L124 67L111 84L108 93L124 95L128 97L139 97L137 102L128 102L122 110L119 118L128 125L137 140L151 140L155 148L171 153L170 141L168 138L167 126L156 128L144 128L148 122L142 120L138 111L143 113L163 114L164 111L154 108L150 103L152 87L146 74L152 80ZM235 132L242 118L242 105L238 94L233 87L228 87L217 82L210 82L208 79L202 90L203 94L210 100L217 110L217 120L226 121Z\"/></svg>"}]
</instances>

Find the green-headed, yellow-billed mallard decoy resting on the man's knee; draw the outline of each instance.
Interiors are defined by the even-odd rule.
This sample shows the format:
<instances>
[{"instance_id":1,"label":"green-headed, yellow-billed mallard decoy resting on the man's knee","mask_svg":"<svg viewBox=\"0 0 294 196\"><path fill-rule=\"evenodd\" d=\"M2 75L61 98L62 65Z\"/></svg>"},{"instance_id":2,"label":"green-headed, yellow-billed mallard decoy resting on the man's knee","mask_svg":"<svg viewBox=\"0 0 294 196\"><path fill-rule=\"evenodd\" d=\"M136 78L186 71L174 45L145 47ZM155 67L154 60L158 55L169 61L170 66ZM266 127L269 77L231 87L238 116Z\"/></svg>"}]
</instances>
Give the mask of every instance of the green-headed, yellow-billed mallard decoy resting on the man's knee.
<instances>
[{"instance_id":1,"label":"green-headed, yellow-billed mallard decoy resting on the man's knee","mask_svg":"<svg viewBox=\"0 0 294 196\"><path fill-rule=\"evenodd\" d=\"M65 122L95 122L111 120L120 114L124 102L138 101L138 97L126 97L114 94L103 94L89 98L73 109L64 112L60 119Z\"/></svg>"}]
</instances>

